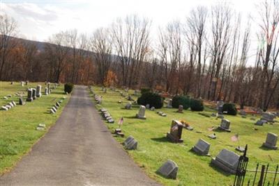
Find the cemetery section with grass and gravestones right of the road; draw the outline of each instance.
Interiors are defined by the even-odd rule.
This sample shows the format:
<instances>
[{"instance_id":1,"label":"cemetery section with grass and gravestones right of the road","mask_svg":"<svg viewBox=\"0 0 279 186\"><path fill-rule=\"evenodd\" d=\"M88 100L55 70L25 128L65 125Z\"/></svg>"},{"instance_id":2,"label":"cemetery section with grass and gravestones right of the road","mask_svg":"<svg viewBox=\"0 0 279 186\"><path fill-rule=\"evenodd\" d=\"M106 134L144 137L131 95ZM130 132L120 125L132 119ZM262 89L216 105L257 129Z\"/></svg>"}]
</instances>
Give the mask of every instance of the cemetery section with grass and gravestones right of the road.
<instances>
[{"instance_id":1,"label":"cemetery section with grass and gravestones right of the road","mask_svg":"<svg viewBox=\"0 0 279 186\"><path fill-rule=\"evenodd\" d=\"M110 110L110 116L116 121L115 124L105 122L107 128L112 133L121 130L123 134L114 135L115 139L146 174L163 185L230 185L246 144L250 158L248 169L255 168L257 162L279 162L276 150L279 119L273 115L250 115L243 111L239 115L226 115L220 108L224 103L195 112L184 109L183 105L172 107L169 100L154 112L149 103L138 105L123 99L128 94L137 100L141 94L135 94L135 90L116 88L105 93L96 86L91 90L92 95L98 95L97 99L102 97L96 108ZM94 96L92 101L95 102ZM120 129L117 121L121 117ZM264 119L272 121L255 125L257 120ZM234 142L231 138L236 133L239 140Z\"/></svg>"}]
</instances>

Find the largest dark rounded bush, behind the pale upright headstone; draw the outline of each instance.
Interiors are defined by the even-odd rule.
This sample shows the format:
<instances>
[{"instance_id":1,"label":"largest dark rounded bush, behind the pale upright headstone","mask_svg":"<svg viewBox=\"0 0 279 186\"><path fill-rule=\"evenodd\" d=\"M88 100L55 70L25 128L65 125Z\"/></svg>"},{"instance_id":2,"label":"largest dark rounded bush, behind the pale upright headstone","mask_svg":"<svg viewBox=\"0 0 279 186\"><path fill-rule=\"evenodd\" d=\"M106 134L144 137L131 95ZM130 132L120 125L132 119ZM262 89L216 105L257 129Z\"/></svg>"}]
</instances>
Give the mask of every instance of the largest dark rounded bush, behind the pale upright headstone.
<instances>
[{"instance_id":1,"label":"largest dark rounded bush, behind the pale upright headstone","mask_svg":"<svg viewBox=\"0 0 279 186\"><path fill-rule=\"evenodd\" d=\"M139 105L147 105L154 108L162 108L163 107L163 99L159 94L152 92L145 92L137 99L137 104Z\"/></svg>"}]
</instances>

